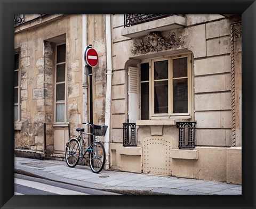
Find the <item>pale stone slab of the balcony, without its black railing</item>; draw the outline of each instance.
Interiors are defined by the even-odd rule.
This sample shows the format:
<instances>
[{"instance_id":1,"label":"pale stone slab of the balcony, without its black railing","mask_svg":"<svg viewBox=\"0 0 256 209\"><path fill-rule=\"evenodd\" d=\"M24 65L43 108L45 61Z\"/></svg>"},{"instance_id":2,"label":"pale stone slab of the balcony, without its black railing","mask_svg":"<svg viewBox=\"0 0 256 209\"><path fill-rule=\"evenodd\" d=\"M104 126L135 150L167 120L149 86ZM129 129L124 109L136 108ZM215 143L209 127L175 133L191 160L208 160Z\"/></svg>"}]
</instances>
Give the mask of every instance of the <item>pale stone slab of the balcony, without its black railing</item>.
<instances>
[{"instance_id":1,"label":"pale stone slab of the balcony, without its black railing","mask_svg":"<svg viewBox=\"0 0 256 209\"><path fill-rule=\"evenodd\" d=\"M186 27L186 18L183 16L173 15L123 28L121 35L129 38L136 38L148 35L152 31L166 31L184 27Z\"/></svg>"}]
</instances>

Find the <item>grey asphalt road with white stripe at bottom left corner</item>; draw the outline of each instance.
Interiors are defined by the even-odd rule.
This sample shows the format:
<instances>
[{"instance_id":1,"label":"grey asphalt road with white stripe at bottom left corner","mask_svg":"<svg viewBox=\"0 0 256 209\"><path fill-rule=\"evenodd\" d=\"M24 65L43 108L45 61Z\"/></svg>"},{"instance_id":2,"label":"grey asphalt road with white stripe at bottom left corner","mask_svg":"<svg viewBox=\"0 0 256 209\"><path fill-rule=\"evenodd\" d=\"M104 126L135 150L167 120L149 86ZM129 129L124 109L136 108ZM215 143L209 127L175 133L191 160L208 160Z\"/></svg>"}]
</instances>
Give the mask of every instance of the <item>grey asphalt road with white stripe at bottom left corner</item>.
<instances>
[{"instance_id":1,"label":"grey asphalt road with white stripe at bottom left corner","mask_svg":"<svg viewBox=\"0 0 256 209\"><path fill-rule=\"evenodd\" d=\"M119 195L108 191L90 189L29 177L27 175L14 174L15 195Z\"/></svg>"}]
</instances>

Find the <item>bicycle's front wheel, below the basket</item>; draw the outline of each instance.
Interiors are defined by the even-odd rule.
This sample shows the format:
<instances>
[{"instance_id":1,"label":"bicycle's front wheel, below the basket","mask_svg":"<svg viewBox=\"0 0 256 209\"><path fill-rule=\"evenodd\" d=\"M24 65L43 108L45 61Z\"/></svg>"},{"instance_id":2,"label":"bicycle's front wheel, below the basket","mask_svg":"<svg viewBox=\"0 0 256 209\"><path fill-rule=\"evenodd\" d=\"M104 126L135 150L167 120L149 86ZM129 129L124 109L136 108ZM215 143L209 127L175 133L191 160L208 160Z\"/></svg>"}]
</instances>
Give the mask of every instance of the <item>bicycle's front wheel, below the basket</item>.
<instances>
[{"instance_id":1,"label":"bicycle's front wheel, below the basket","mask_svg":"<svg viewBox=\"0 0 256 209\"><path fill-rule=\"evenodd\" d=\"M90 168L93 173L99 173L105 165L106 152L103 144L96 142L89 153Z\"/></svg>"}]
</instances>

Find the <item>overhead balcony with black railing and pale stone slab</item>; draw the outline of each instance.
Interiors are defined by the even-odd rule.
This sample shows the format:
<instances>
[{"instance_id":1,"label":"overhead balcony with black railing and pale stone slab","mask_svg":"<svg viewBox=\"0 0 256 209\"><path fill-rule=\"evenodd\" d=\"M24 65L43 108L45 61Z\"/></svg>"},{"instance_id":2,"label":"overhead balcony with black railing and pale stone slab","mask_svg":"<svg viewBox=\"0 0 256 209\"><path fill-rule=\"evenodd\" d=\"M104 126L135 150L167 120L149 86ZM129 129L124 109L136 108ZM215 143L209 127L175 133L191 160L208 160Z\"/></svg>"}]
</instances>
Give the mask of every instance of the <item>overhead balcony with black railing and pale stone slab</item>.
<instances>
[{"instance_id":1,"label":"overhead balcony with black railing and pale stone slab","mask_svg":"<svg viewBox=\"0 0 256 209\"><path fill-rule=\"evenodd\" d=\"M137 38L152 31L166 31L186 26L186 17L180 14L125 14L122 36Z\"/></svg>"}]
</instances>

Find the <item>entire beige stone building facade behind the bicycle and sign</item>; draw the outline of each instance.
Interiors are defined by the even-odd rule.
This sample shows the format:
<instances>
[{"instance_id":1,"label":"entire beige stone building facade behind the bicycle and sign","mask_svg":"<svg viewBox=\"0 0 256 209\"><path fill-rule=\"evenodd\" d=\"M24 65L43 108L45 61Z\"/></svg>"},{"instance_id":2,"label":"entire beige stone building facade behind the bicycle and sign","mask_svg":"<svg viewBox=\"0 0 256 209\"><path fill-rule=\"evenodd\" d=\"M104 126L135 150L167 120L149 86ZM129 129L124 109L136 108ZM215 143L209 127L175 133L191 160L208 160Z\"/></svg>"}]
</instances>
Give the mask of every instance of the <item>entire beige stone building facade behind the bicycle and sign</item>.
<instances>
[{"instance_id":1,"label":"entire beige stone building facade behind the bicycle and sign","mask_svg":"<svg viewBox=\"0 0 256 209\"><path fill-rule=\"evenodd\" d=\"M242 183L241 16L149 16L24 15L14 36L16 154L61 159L92 115L109 126L105 169ZM92 83L89 44L99 55ZM182 146L187 123L194 144Z\"/></svg>"}]
</instances>

